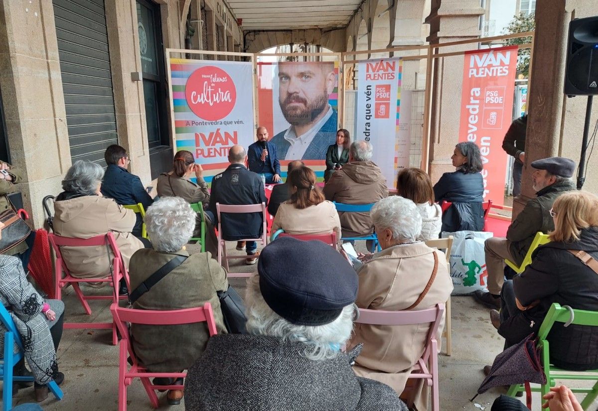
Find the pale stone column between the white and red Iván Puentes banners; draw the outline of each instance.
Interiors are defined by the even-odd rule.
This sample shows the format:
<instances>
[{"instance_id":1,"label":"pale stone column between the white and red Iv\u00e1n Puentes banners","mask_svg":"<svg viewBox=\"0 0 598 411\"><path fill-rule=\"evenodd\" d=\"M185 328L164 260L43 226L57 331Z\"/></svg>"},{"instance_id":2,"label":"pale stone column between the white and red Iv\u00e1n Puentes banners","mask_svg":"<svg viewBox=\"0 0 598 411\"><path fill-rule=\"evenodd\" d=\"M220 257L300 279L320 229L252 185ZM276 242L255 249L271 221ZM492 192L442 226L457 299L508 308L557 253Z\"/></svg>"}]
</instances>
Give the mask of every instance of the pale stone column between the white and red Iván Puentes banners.
<instances>
[{"instance_id":1,"label":"pale stone column between the white and red Iv\u00e1n Puentes banners","mask_svg":"<svg viewBox=\"0 0 598 411\"><path fill-rule=\"evenodd\" d=\"M480 16L485 11L478 0L432 0L430 44L441 44L480 37ZM439 53L471 50L471 44L443 47ZM459 117L463 56L440 57L434 63L429 149L429 172L437 182L447 171L454 171L450 156L459 142ZM457 102L457 103L456 103Z\"/></svg>"}]
</instances>

